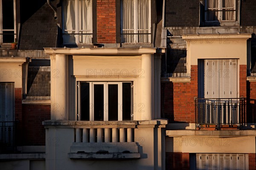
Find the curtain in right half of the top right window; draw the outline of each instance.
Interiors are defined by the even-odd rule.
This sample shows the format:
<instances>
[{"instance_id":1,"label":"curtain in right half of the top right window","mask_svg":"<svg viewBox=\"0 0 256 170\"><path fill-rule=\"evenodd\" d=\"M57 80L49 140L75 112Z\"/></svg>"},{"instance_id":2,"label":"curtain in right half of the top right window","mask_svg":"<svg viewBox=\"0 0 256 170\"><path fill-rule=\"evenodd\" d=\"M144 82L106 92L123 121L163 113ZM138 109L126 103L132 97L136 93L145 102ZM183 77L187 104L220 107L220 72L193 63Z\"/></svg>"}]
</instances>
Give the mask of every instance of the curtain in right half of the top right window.
<instances>
[{"instance_id":1,"label":"curtain in right half of the top right window","mask_svg":"<svg viewBox=\"0 0 256 170\"><path fill-rule=\"evenodd\" d=\"M234 18L234 0L223 0L222 7L228 8L223 10L222 20L235 20Z\"/></svg>"}]
</instances>

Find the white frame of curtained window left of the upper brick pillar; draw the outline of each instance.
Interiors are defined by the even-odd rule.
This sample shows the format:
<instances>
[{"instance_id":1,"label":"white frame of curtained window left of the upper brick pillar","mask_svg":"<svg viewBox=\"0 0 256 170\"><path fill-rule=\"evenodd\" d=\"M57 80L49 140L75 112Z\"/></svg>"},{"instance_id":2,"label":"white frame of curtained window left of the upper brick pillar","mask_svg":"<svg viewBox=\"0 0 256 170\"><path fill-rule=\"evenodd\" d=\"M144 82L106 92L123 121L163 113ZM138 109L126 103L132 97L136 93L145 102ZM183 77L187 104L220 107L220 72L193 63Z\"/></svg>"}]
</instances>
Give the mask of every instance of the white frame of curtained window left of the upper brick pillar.
<instances>
[{"instance_id":1,"label":"white frame of curtained window left of the upper brick pillar","mask_svg":"<svg viewBox=\"0 0 256 170\"><path fill-rule=\"evenodd\" d=\"M91 28L92 28L91 30L87 30L87 29L81 29L80 30L79 29L79 27L80 27L80 23L79 23L79 18L80 18L80 16L79 16L79 0L73 0L73 1L75 1L75 26L76 26L76 28L75 29L64 29L64 18L62 18L62 22L63 22L63 30L62 30L63 44L92 44L93 43L93 39L92 39L93 38L93 26L91 26ZM91 3L93 3L93 0L91 0ZM91 4L91 6L92 6L92 4ZM93 9L92 9L92 11L93 11ZM63 12L64 12L64 10L62 11L62 16L64 16ZM93 14L92 14L92 16L93 16ZM91 20L93 20L93 18L91 18ZM88 42L80 43L79 42L79 36L82 35L82 34L80 34L80 32L84 32L84 31L90 31L90 33L88 33L89 34L88 37L90 39L88 40ZM73 33L67 34L65 32L75 32L74 36L75 36L76 42L75 43L65 42L64 36L73 34Z\"/></svg>"}]
</instances>

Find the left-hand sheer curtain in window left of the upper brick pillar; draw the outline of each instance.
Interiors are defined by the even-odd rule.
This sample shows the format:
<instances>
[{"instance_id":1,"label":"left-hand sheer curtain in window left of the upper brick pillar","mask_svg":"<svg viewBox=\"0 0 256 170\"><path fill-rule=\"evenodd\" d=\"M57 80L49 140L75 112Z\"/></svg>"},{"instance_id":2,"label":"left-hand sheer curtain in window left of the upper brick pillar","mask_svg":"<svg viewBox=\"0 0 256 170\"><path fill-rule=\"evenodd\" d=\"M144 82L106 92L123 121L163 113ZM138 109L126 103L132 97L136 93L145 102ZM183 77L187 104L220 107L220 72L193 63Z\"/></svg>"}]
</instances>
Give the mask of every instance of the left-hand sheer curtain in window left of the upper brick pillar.
<instances>
[{"instance_id":1,"label":"left-hand sheer curtain in window left of the upper brick pillar","mask_svg":"<svg viewBox=\"0 0 256 170\"><path fill-rule=\"evenodd\" d=\"M64 43L76 43L75 33L75 0L64 0L63 2L63 29ZM68 35L69 34L69 35Z\"/></svg>"}]
</instances>

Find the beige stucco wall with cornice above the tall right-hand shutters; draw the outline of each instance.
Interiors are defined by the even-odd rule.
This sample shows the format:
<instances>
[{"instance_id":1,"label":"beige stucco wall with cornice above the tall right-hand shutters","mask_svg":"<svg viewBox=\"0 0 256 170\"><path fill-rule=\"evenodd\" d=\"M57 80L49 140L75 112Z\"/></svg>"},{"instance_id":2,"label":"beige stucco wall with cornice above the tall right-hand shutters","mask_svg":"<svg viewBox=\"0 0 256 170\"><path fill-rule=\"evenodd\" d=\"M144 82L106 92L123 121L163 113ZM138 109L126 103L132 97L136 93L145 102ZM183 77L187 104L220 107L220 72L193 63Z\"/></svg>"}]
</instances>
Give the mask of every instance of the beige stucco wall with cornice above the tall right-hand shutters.
<instances>
[{"instance_id":1,"label":"beige stucco wall with cornice above the tall right-hand shutters","mask_svg":"<svg viewBox=\"0 0 256 170\"><path fill-rule=\"evenodd\" d=\"M247 65L250 52L247 40L251 34L191 34L183 35L187 46L187 70L198 65L198 59L239 59L240 65Z\"/></svg>"}]
</instances>

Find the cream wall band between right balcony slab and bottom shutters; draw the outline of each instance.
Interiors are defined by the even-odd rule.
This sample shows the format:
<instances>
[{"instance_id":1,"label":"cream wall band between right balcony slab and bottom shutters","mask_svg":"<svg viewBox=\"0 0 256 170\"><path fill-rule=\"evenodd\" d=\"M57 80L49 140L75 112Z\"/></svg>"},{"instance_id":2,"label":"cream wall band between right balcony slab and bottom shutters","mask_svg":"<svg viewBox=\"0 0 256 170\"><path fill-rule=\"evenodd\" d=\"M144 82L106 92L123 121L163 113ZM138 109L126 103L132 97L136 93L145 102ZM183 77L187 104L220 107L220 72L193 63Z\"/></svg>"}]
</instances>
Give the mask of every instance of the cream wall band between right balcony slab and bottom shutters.
<instances>
[{"instance_id":1,"label":"cream wall band between right balcony slab and bottom shutters","mask_svg":"<svg viewBox=\"0 0 256 170\"><path fill-rule=\"evenodd\" d=\"M254 136L167 137L166 152L183 153L255 153Z\"/></svg>"}]
</instances>

